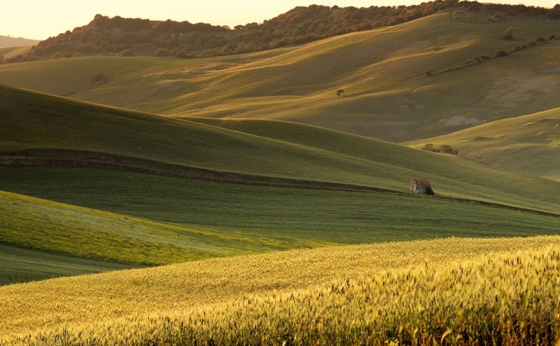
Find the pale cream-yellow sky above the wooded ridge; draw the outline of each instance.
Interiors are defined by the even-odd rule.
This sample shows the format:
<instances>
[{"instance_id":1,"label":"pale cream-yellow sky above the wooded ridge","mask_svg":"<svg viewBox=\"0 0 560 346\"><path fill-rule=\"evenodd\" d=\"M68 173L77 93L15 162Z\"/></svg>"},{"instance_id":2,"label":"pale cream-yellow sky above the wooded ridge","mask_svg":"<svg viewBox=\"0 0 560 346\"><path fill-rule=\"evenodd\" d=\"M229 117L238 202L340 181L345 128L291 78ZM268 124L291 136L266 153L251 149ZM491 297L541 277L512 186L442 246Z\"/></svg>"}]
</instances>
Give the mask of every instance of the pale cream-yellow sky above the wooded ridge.
<instances>
[{"instance_id":1,"label":"pale cream-yellow sky above the wooded ridge","mask_svg":"<svg viewBox=\"0 0 560 346\"><path fill-rule=\"evenodd\" d=\"M150 20L188 20L214 25L261 23L295 6L340 7L413 5L429 0L1 0L0 35L44 40L66 30L82 27L97 13L114 17ZM479 0L480 1L480 0ZM552 8L560 0L482 0L480 2L524 3Z\"/></svg>"}]
</instances>

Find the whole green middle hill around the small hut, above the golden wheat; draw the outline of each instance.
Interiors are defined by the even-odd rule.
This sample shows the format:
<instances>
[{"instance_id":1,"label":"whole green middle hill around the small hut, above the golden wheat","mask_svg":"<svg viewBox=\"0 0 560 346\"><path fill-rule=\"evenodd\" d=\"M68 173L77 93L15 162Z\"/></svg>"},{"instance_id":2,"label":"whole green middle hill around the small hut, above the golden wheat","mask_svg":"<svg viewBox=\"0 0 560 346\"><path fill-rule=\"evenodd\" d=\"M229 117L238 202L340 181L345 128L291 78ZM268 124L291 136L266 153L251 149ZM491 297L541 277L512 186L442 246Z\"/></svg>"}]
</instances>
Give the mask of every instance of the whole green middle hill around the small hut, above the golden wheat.
<instances>
[{"instance_id":1,"label":"whole green middle hill around the small hut, above the golden wheat","mask_svg":"<svg viewBox=\"0 0 560 346\"><path fill-rule=\"evenodd\" d=\"M102 261L56 275L560 228L549 194L558 182L458 157L293 122L181 120L13 87L0 94L0 201L10 210L0 242L28 257ZM437 196L407 192L419 176ZM10 282L18 264L6 263Z\"/></svg>"}]
</instances>

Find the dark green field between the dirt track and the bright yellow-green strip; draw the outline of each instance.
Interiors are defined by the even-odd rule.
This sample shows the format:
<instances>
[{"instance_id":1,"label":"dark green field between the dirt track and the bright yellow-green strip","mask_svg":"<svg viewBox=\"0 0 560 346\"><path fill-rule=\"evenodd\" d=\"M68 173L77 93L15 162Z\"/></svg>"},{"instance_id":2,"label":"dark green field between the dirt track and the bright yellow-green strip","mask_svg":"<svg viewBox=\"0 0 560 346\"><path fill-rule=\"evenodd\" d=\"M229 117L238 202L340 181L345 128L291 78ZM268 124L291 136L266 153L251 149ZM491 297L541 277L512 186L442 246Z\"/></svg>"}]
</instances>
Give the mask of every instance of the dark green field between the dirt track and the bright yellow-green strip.
<instances>
[{"instance_id":1,"label":"dark green field between the dirt track and the bright yellow-green strip","mask_svg":"<svg viewBox=\"0 0 560 346\"><path fill-rule=\"evenodd\" d=\"M71 168L2 168L0 173L0 189L104 210L118 214L120 222L127 221L123 215L134 222L142 221L137 217L156 222L141 228L109 218L109 226L100 231L144 230L154 235L153 241L175 239L171 232L176 231L186 244L199 237L190 239L193 245L183 248L186 252L196 250L196 240L202 249L222 244L223 252L238 248L248 253L440 236L530 236L560 229L559 217L420 196L228 185ZM179 225L188 228L177 229ZM120 231L120 238L126 237Z\"/></svg>"}]
</instances>

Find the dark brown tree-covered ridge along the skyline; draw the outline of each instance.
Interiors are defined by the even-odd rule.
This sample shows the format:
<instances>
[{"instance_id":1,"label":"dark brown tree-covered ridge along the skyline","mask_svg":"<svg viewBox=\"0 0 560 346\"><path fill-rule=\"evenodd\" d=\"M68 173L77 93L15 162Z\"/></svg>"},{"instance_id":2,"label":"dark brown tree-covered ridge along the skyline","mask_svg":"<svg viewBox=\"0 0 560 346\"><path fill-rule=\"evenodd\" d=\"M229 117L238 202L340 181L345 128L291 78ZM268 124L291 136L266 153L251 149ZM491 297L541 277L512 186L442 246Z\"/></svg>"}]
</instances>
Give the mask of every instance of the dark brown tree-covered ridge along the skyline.
<instances>
[{"instance_id":1,"label":"dark brown tree-covered ridge along the skyline","mask_svg":"<svg viewBox=\"0 0 560 346\"><path fill-rule=\"evenodd\" d=\"M130 49L141 55L209 57L254 52L322 38L409 22L452 11L463 20L496 22L514 17L557 20L552 9L524 5L484 4L477 1L431 1L413 6L299 6L262 24L235 28L190 22L151 21L96 15L92 22L48 38L21 57L22 61L75 55L116 55ZM130 52L128 53L130 54Z\"/></svg>"}]
</instances>

